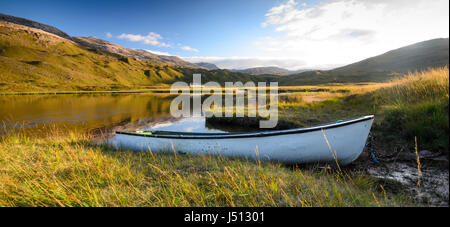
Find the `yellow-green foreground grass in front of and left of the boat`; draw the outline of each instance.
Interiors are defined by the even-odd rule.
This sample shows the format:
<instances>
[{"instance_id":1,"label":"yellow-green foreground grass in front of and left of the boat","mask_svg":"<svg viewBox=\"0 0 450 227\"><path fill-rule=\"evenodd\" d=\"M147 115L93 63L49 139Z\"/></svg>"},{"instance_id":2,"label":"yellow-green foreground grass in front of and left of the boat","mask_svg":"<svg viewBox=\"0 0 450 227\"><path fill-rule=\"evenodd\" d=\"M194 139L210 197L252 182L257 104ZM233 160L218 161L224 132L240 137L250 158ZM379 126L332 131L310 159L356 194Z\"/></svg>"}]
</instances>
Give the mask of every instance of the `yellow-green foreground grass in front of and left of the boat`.
<instances>
[{"instance_id":1,"label":"yellow-green foreground grass in front of and left of the boat","mask_svg":"<svg viewBox=\"0 0 450 227\"><path fill-rule=\"evenodd\" d=\"M0 138L0 206L405 206L358 173L114 151L89 136Z\"/></svg>"}]
</instances>

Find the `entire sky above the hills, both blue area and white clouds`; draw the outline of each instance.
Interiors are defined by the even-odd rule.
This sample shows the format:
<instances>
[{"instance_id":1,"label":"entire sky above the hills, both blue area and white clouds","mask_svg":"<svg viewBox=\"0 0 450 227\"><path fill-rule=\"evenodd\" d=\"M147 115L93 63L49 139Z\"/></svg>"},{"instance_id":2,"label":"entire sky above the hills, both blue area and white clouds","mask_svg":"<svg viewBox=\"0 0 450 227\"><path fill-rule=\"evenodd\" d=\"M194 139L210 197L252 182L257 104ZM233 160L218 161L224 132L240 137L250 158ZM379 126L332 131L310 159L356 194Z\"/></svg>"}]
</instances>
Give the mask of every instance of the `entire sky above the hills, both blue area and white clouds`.
<instances>
[{"instance_id":1,"label":"entire sky above the hills, both blue area and white clouds","mask_svg":"<svg viewBox=\"0 0 450 227\"><path fill-rule=\"evenodd\" d=\"M375 3L374 3L375 2ZM448 0L2 0L71 36L222 68L331 68L448 37Z\"/></svg>"}]
</instances>

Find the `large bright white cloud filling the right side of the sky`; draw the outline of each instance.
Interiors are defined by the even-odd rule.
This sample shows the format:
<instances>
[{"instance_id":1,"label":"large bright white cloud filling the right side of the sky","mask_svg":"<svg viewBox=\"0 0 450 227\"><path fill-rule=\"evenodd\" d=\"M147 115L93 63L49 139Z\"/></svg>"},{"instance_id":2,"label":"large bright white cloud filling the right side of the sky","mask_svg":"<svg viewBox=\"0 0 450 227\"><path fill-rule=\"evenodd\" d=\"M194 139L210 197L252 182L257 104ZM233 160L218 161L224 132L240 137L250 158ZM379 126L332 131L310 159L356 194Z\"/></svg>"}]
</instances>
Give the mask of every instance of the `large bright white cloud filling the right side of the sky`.
<instances>
[{"instance_id":1,"label":"large bright white cloud filling the right side of the sky","mask_svg":"<svg viewBox=\"0 0 450 227\"><path fill-rule=\"evenodd\" d=\"M308 67L342 65L405 45L449 36L448 0L289 0L268 10L273 36L254 44L260 56L303 59Z\"/></svg>"}]
</instances>

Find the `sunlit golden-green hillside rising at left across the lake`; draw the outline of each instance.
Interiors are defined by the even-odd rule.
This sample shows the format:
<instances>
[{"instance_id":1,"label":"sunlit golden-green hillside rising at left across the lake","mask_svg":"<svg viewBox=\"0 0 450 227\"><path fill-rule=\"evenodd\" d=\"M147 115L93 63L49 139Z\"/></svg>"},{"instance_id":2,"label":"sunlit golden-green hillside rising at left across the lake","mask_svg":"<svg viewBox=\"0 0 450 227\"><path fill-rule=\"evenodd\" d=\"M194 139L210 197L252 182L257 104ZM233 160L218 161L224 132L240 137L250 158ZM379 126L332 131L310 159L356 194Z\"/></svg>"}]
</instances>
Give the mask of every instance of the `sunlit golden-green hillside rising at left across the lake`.
<instances>
[{"instance_id":1,"label":"sunlit golden-green hillside rising at left across the lake","mask_svg":"<svg viewBox=\"0 0 450 227\"><path fill-rule=\"evenodd\" d=\"M188 69L125 58L42 30L0 21L0 92L145 89L191 81L256 80L225 70Z\"/></svg>"}]
</instances>

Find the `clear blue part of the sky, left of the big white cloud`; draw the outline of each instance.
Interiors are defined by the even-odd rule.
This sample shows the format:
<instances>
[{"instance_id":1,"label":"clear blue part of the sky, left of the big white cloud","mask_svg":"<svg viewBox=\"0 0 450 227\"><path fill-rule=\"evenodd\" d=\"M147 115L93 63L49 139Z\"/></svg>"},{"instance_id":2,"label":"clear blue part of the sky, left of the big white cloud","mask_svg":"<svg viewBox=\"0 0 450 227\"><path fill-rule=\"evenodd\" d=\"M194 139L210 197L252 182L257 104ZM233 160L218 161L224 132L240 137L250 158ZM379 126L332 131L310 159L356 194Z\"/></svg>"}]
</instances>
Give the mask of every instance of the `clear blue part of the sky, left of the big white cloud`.
<instances>
[{"instance_id":1,"label":"clear blue part of the sky, left of the big white cloud","mask_svg":"<svg viewBox=\"0 0 450 227\"><path fill-rule=\"evenodd\" d=\"M246 43L270 33L261 29L264 14L277 0L190 1L3 1L0 12L53 25L71 36L96 36L130 48L175 55L235 56ZM114 37L160 34L171 47L146 45ZM183 51L178 44L199 52ZM201 51L201 52L200 52Z\"/></svg>"}]
</instances>

